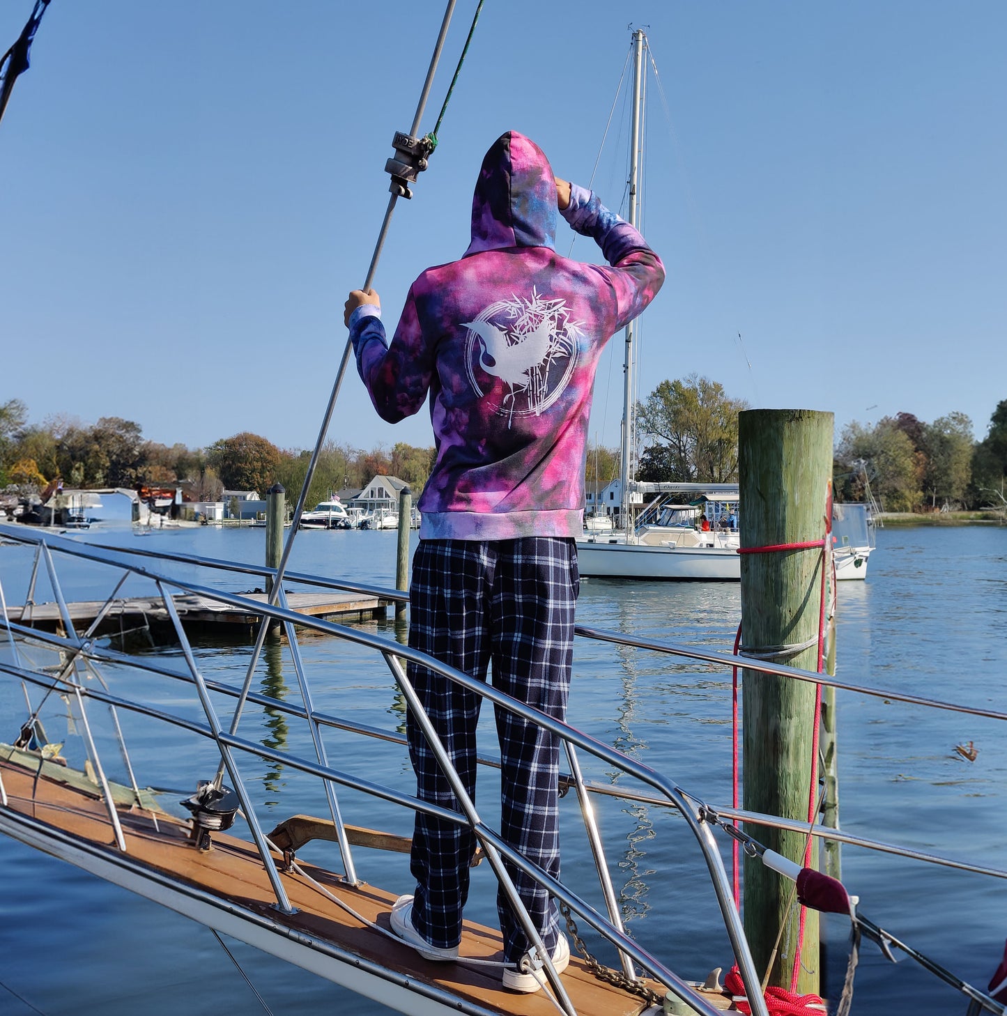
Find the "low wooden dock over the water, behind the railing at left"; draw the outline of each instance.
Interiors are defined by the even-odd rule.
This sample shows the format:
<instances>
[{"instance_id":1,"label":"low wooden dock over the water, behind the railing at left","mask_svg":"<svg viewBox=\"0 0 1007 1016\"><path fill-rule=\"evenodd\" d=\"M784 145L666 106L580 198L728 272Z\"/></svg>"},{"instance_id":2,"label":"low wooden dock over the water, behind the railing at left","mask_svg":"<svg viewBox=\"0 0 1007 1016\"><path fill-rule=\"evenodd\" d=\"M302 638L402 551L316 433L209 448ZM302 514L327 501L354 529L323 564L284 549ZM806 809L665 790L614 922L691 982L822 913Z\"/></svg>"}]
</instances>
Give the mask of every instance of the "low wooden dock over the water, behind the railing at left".
<instances>
[{"instance_id":1,"label":"low wooden dock over the water, behind the railing at left","mask_svg":"<svg viewBox=\"0 0 1007 1016\"><path fill-rule=\"evenodd\" d=\"M264 592L242 593L248 599L263 606ZM259 625L259 617L253 611L245 611L230 604L222 604L208 596L180 593L172 597L179 620L185 629L213 629L234 626L238 630L244 626L254 631ZM305 614L321 621L367 621L383 618L388 600L378 596L367 596L357 592L289 592L288 606L298 614ZM67 604L67 610L78 634L93 623L105 606L104 600L79 600ZM11 621L55 631L62 627L62 615L55 602L8 607ZM24 619L23 621L21 619ZM129 596L116 601L102 620L97 634L116 634L144 627L171 626L171 618L164 602L158 596Z\"/></svg>"}]
</instances>

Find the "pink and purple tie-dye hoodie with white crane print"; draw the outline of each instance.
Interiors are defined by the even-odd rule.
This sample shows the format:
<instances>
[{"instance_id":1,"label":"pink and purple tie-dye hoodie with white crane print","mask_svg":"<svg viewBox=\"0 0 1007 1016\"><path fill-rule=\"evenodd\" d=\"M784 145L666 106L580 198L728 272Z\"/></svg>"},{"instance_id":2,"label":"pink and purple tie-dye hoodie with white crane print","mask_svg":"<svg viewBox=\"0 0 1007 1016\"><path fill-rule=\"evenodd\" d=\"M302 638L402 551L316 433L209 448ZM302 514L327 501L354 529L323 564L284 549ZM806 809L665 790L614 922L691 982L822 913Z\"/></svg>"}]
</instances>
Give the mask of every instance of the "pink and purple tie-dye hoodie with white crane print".
<instances>
[{"instance_id":1,"label":"pink and purple tie-dye hoodie with white crane print","mask_svg":"<svg viewBox=\"0 0 1007 1016\"><path fill-rule=\"evenodd\" d=\"M574 536L583 529L594 371L606 342L653 299L660 259L581 187L561 214L608 265L555 250L556 184L515 131L486 153L462 258L413 283L390 346L375 308L350 319L379 416L430 395L437 460L418 507L424 539Z\"/></svg>"}]
</instances>

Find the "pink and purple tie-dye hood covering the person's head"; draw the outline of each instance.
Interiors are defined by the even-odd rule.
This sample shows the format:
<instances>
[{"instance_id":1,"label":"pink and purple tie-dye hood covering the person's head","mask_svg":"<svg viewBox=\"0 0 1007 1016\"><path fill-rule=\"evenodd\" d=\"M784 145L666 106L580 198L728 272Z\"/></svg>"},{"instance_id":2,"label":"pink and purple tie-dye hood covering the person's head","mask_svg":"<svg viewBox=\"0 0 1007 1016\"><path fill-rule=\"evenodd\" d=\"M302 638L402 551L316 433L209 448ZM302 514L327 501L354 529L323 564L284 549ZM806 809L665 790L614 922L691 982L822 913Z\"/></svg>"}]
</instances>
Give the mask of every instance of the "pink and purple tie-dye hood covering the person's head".
<instances>
[{"instance_id":1,"label":"pink and purple tie-dye hood covering the person's head","mask_svg":"<svg viewBox=\"0 0 1007 1016\"><path fill-rule=\"evenodd\" d=\"M542 148L517 131L493 142L473 198L465 255L503 247L556 249L556 182Z\"/></svg>"}]
</instances>

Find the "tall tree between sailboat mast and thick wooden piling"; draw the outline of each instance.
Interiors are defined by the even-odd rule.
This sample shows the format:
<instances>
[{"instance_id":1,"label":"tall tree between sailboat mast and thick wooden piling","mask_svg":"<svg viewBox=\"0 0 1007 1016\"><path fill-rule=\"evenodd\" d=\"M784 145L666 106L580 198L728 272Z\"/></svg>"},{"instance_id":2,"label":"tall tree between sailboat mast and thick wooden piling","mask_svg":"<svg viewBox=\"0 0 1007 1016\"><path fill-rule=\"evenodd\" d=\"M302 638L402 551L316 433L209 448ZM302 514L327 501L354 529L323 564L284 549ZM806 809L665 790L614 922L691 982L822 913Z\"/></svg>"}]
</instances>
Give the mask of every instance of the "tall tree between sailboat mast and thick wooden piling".
<instances>
[{"instance_id":1,"label":"tall tree between sailboat mast and thick wooden piling","mask_svg":"<svg viewBox=\"0 0 1007 1016\"><path fill-rule=\"evenodd\" d=\"M738 414L747 407L716 381L694 373L662 381L637 403L637 430L667 447L669 480L731 483L738 479Z\"/></svg>"}]
</instances>

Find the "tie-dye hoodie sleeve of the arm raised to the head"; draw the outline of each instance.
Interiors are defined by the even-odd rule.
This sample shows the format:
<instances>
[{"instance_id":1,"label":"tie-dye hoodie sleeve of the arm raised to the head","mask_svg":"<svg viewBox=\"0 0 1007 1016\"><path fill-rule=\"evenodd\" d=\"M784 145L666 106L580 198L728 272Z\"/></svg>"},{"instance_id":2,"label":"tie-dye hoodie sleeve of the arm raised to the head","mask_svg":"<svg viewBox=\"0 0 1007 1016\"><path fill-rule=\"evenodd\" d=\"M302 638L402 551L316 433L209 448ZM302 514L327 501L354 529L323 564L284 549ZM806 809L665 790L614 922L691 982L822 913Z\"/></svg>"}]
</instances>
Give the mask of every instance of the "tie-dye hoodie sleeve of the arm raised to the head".
<instances>
[{"instance_id":1,"label":"tie-dye hoodie sleeve of the arm raised to the head","mask_svg":"<svg viewBox=\"0 0 1007 1016\"><path fill-rule=\"evenodd\" d=\"M638 317L665 281L665 266L639 231L610 211L597 196L576 184L570 186L570 204L560 214L570 228L590 237L602 248L611 268L600 267L616 298L615 328Z\"/></svg>"}]
</instances>

